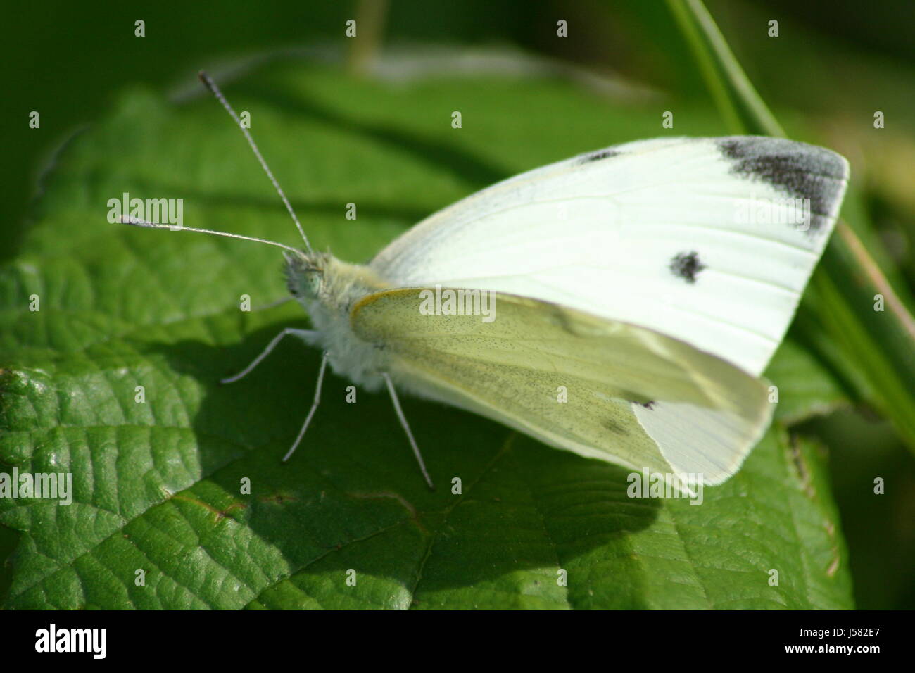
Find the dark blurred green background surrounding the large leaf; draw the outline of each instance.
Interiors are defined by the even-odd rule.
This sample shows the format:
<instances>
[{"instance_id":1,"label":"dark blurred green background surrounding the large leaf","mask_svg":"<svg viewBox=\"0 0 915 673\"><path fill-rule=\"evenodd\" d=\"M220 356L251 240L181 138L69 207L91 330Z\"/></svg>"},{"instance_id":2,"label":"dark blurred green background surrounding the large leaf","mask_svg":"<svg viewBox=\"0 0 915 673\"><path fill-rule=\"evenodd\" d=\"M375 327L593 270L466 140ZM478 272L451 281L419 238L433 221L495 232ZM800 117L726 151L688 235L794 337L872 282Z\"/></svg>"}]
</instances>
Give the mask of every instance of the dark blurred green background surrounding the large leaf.
<instances>
[{"instance_id":1,"label":"dark blurred green background surrounding the large leaf","mask_svg":"<svg viewBox=\"0 0 915 673\"><path fill-rule=\"evenodd\" d=\"M878 233L871 254L894 267L903 296L915 287L915 3L811 0L706 3L762 98L791 132L843 153ZM403 0L347 2L157 2L124 6L36 2L5 12L4 161L0 258L16 254L30 203L55 151L107 113L124 86L142 82L163 96L187 91L200 68L218 70L283 49L353 58L344 22L383 12L380 49L436 45L522 50L560 76L600 76L609 104L651 113L676 105L716 114L691 52L660 0L542 2ZM367 8L368 7L368 8ZM360 14L363 13L363 14ZM146 37L134 37L145 20ZM564 18L569 37L555 36ZM779 21L779 38L767 34ZM361 24L368 25L368 24ZM358 55L356 55L358 58ZM571 66L571 67L570 67ZM663 102L663 103L661 103ZM41 114L29 129L28 114ZM873 126L875 111L886 128ZM722 127L722 132L726 129ZM633 138L635 139L635 138ZM601 139L595 140L599 147ZM111 157L112 162L119 157ZM898 269L899 276L895 276ZM834 493L862 609L915 607L915 461L887 422L867 408L809 421L831 451ZM875 498L874 476L891 483ZM0 528L0 558L16 535ZM0 594L9 568L0 570Z\"/></svg>"}]
</instances>

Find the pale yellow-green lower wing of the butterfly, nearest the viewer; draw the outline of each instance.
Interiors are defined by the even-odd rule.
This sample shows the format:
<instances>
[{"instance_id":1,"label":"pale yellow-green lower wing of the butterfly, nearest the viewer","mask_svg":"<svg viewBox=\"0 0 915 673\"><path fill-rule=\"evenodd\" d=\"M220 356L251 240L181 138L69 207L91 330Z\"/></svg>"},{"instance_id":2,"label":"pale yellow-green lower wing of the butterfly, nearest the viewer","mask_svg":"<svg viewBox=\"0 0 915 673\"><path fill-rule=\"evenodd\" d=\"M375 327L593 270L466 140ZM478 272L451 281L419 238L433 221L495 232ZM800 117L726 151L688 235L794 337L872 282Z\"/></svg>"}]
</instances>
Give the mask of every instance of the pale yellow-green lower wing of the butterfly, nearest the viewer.
<instances>
[{"instance_id":1,"label":"pale yellow-green lower wing of the butterfly, nearest the viewer","mask_svg":"<svg viewBox=\"0 0 915 673\"><path fill-rule=\"evenodd\" d=\"M768 426L764 385L687 343L503 293L490 296L491 321L429 314L424 302L435 292L385 290L350 312L353 331L379 344L405 391L589 458L703 472L705 483L736 472ZM676 432L682 413L703 430L686 435L692 443Z\"/></svg>"}]
</instances>

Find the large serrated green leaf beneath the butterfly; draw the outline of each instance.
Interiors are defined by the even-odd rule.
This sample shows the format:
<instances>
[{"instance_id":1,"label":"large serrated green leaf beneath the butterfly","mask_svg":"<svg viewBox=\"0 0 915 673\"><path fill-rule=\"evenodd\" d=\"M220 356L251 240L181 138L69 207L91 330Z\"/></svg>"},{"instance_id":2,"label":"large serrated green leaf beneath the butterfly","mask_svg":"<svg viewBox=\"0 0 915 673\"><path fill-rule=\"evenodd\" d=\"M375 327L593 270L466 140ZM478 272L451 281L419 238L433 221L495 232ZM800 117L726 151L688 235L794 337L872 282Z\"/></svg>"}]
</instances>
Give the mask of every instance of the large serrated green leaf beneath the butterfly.
<instances>
[{"instance_id":1,"label":"large serrated green leaf beneath the butterfly","mask_svg":"<svg viewBox=\"0 0 915 673\"><path fill-rule=\"evenodd\" d=\"M556 81L389 88L296 64L226 93L251 112L313 244L352 261L494 179L656 132ZM183 197L188 226L296 243L209 98L126 93L60 155L35 226L0 266L0 464L72 473L73 503L0 498L0 523L21 532L5 607L852 607L823 455L778 426L694 506L630 498L619 467L404 399L431 493L389 400L359 391L348 404L349 382L329 376L282 463L319 353L284 342L218 384L308 324L292 303L269 306L285 294L279 255L107 223L125 191Z\"/></svg>"}]
</instances>

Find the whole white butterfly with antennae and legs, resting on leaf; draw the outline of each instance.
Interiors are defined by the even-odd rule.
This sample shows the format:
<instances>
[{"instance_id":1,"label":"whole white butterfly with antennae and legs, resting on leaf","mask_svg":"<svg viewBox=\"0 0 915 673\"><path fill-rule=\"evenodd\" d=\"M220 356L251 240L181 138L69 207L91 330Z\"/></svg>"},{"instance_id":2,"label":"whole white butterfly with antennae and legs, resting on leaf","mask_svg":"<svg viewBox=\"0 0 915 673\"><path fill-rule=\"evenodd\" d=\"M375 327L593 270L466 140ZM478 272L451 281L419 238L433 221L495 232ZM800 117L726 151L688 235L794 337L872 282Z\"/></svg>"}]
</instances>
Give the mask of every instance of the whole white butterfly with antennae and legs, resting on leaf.
<instances>
[{"instance_id":1,"label":"whole white butterfly with antennae and legs, resting on leaf","mask_svg":"<svg viewBox=\"0 0 915 673\"><path fill-rule=\"evenodd\" d=\"M356 385L388 389L430 485L396 389L588 458L716 484L769 426L759 375L847 179L844 157L791 140L663 138L499 182L428 217L366 266L314 252L294 213L304 251L185 230L285 248L289 289L314 330L286 329L226 381L285 335L323 351L314 404L286 458L329 363ZM440 301L442 288L479 292L459 295L456 308ZM433 292L436 309L448 310L430 314ZM486 299L489 319L472 310Z\"/></svg>"}]
</instances>

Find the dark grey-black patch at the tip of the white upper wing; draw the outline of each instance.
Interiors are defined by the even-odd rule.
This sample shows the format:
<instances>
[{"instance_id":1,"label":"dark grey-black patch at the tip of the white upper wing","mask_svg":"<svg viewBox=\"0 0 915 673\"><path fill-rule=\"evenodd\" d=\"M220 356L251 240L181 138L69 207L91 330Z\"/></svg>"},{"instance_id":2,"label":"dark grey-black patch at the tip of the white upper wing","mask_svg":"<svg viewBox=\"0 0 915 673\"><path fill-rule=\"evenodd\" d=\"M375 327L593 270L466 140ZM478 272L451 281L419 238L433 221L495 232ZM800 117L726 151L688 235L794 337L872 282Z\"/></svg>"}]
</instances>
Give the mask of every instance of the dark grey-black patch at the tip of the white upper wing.
<instances>
[{"instance_id":1,"label":"dark grey-black patch at the tip of the white upper wing","mask_svg":"<svg viewBox=\"0 0 915 673\"><path fill-rule=\"evenodd\" d=\"M810 199L810 231L837 214L848 166L835 152L762 136L720 138L717 143L732 163L732 174L766 182L794 199Z\"/></svg>"}]
</instances>

